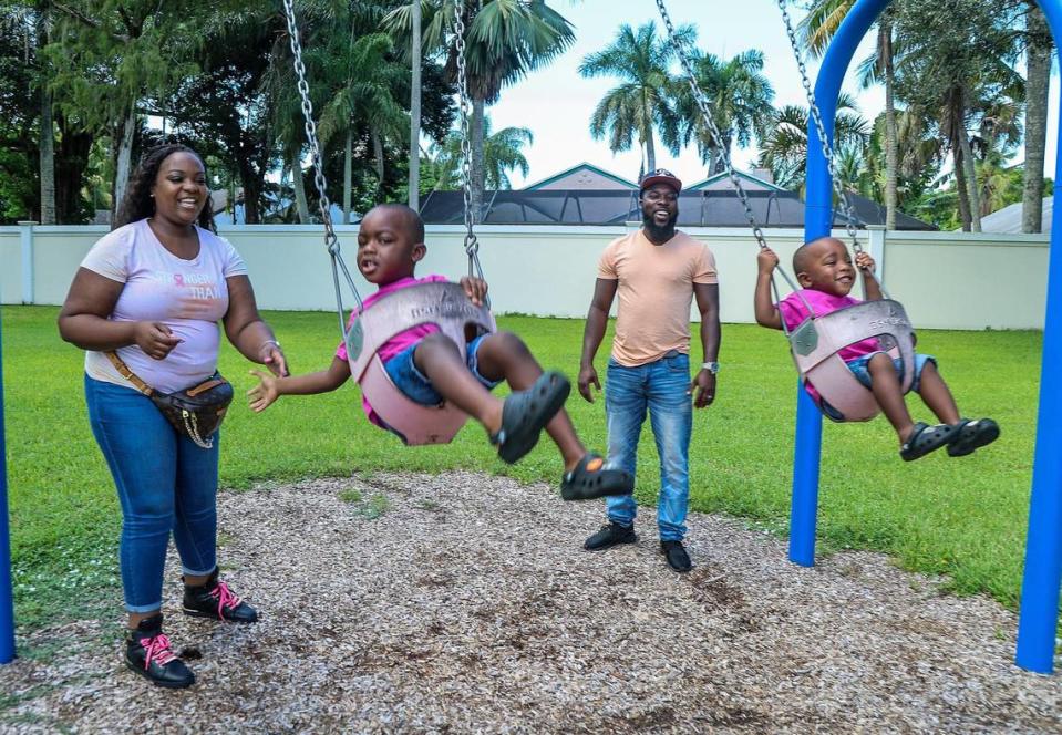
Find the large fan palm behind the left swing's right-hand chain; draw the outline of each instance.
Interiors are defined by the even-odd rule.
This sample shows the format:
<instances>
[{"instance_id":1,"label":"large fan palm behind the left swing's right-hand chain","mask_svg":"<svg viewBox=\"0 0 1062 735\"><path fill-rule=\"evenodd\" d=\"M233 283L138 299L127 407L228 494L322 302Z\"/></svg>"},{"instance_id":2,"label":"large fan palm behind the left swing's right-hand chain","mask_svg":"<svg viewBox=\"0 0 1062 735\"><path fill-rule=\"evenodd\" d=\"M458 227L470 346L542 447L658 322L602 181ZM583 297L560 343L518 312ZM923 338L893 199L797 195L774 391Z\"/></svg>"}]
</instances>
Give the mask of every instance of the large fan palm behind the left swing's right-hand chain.
<instances>
[{"instance_id":1,"label":"large fan palm behind the left swing's right-hand chain","mask_svg":"<svg viewBox=\"0 0 1062 735\"><path fill-rule=\"evenodd\" d=\"M426 0L423 44L425 53L444 53L446 71L457 76L457 49L453 38L453 0ZM411 4L392 10L383 28L405 46L412 35ZM465 66L472 99L472 205L478 213L484 186L484 108L494 104L502 89L523 79L563 53L575 40L571 23L543 0L485 0L466 2ZM476 215L478 216L478 215Z\"/></svg>"}]
</instances>

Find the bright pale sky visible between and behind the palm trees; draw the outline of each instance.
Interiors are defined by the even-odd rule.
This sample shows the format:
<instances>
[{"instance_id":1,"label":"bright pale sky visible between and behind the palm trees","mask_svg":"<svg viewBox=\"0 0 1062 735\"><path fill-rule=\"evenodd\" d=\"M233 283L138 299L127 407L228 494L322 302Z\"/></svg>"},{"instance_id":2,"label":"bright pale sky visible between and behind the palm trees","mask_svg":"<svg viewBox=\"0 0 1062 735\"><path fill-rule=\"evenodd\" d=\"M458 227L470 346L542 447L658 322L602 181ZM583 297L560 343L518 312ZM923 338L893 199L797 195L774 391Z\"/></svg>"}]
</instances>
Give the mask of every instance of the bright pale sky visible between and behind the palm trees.
<instances>
[{"instance_id":1,"label":"bright pale sky visible between and behind the palm trees","mask_svg":"<svg viewBox=\"0 0 1062 735\"><path fill-rule=\"evenodd\" d=\"M612 154L605 141L594 141L589 121L594 108L605 94L619 83L615 77L582 79L578 66L584 56L607 46L622 23L633 28L653 20L658 33L663 24L652 0L553 0L549 3L575 25L576 41L564 55L546 69L533 72L502 92L499 102L487 110L495 131L508 126L530 128L534 144L525 148L530 166L527 177L518 170L509 174L514 188L534 184L576 164L588 162L617 176L633 180L638 177L641 156L635 149ZM805 105L800 72L785 37L782 15L774 0L670 0L668 12L676 25L692 23L698 29L698 45L703 51L729 59L742 51L760 49L764 52L764 74L775 92L775 106ZM798 9L791 10L793 22L801 20ZM870 40L856 53L856 63L869 55ZM817 62L807 60L812 83ZM1055 66L1055 70L1058 68ZM1023 70L1022 70L1023 73ZM885 91L877 86L859 90L849 71L845 90L856 96L859 112L867 120L884 108ZM1059 111L1059 76L1051 80L1051 117L1048 121L1045 175L1054 175L1055 133ZM657 165L671 169L688 183L704 178L704 167L695 146L672 158L657 143ZM734 165L752 167L755 148L734 148ZM1020 162L1021 154L1014 158Z\"/></svg>"}]
</instances>

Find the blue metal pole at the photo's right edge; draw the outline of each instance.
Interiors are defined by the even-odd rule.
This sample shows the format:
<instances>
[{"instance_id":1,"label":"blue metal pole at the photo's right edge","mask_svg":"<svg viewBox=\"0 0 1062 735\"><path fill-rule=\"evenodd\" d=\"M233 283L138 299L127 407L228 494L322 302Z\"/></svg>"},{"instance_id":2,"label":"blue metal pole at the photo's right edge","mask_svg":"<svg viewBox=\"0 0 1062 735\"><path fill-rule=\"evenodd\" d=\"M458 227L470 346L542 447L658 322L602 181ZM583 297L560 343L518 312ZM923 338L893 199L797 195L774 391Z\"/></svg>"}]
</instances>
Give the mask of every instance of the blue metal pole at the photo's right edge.
<instances>
[{"instance_id":1,"label":"blue metal pole at the photo's right edge","mask_svg":"<svg viewBox=\"0 0 1062 735\"><path fill-rule=\"evenodd\" d=\"M1040 0L1055 44L1062 41L1062 2ZM1062 136L1062 130L1060 130ZM1055 156L1062 172L1062 147ZM1054 203L1062 184L1055 177ZM1018 650L1014 662L1022 669L1050 674L1054 670L1054 641L1059 625L1059 592L1062 590L1062 217L1051 222L1048 255L1048 303L1043 320L1043 354L1040 369L1040 407L1037 448L1029 500L1029 534L1025 570L1021 581Z\"/></svg>"}]
</instances>

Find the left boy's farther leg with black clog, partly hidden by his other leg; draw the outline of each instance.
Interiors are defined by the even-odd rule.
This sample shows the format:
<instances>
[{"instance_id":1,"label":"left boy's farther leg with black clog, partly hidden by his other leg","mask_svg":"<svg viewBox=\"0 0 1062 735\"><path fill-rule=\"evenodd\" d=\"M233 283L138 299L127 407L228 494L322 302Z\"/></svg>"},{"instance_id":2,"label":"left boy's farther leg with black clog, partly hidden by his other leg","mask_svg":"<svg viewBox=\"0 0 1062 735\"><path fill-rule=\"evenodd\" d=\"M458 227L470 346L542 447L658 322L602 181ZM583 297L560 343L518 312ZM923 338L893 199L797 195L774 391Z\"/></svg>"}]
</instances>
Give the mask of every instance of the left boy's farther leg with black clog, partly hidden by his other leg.
<instances>
[{"instance_id":1,"label":"left boy's farther leg with black clog, partly hidden by his other leg","mask_svg":"<svg viewBox=\"0 0 1062 735\"><path fill-rule=\"evenodd\" d=\"M526 390L543 375L543 370L524 341L512 332L488 334L476 351L480 374L487 380L505 380L514 391ZM605 469L605 460L587 452L576 434L571 418L563 408L546 424L564 459L560 494L565 500L588 500L606 495L629 495L633 479L626 472Z\"/></svg>"}]
</instances>

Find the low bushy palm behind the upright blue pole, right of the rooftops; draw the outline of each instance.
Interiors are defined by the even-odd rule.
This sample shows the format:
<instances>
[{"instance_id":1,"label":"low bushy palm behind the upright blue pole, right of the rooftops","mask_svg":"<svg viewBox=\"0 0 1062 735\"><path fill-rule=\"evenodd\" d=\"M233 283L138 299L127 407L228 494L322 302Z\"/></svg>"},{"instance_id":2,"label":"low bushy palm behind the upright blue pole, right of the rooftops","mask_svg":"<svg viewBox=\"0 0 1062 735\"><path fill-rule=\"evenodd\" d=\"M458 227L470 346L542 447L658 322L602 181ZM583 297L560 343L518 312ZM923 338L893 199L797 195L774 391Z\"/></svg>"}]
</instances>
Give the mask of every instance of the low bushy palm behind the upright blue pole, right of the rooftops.
<instances>
[{"instance_id":1,"label":"low bushy palm behind the upright blue pole, right of the rooftops","mask_svg":"<svg viewBox=\"0 0 1062 735\"><path fill-rule=\"evenodd\" d=\"M769 133L760 146L760 165L770 168L779 186L803 193L807 172L807 122L806 107L785 105L776 111L769 124ZM837 116L834 121L834 149L837 157L847 148L860 152L870 136L869 125L856 111L855 102L847 94L837 99Z\"/></svg>"}]
</instances>

